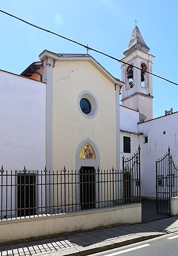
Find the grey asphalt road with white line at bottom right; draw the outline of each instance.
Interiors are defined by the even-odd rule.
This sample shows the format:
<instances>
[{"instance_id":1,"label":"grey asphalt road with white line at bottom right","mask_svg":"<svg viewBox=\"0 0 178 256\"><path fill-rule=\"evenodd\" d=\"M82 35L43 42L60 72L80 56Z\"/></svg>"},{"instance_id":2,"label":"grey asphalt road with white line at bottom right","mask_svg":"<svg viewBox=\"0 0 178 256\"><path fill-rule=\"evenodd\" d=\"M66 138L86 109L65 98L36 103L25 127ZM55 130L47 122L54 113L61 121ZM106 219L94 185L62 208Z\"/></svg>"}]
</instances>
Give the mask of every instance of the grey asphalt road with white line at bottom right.
<instances>
[{"instance_id":1,"label":"grey asphalt road with white line at bottom right","mask_svg":"<svg viewBox=\"0 0 178 256\"><path fill-rule=\"evenodd\" d=\"M178 233L161 236L137 244L93 254L93 256L177 256Z\"/></svg>"}]
</instances>

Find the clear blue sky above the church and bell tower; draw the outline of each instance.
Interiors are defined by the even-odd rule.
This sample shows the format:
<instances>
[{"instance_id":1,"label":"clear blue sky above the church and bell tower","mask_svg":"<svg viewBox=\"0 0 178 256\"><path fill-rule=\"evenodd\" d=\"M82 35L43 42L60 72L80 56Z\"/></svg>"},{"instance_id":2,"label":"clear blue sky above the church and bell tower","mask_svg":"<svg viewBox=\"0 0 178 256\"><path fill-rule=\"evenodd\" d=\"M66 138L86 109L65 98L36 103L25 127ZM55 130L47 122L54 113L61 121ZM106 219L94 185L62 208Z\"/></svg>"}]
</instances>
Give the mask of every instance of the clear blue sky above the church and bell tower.
<instances>
[{"instance_id":1,"label":"clear blue sky above the church and bell tower","mask_svg":"<svg viewBox=\"0 0 178 256\"><path fill-rule=\"evenodd\" d=\"M177 8L170 1L6 0L1 9L23 20L70 37L122 59L137 20L153 60L153 73L178 83ZM57 53L86 53L86 49L0 13L0 69L20 74L45 49ZM89 51L113 76L121 79L120 64ZM178 111L178 86L153 78L154 117L170 108Z\"/></svg>"}]
</instances>

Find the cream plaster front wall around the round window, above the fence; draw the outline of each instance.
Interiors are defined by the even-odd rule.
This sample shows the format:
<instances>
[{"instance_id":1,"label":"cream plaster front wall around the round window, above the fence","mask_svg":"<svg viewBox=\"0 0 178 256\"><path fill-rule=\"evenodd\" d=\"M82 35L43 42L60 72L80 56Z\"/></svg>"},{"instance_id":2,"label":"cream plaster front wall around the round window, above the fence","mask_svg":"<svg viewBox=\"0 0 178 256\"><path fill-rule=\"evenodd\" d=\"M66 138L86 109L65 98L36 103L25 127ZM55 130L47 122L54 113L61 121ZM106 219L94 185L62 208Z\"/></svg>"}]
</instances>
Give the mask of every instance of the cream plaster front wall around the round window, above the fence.
<instances>
[{"instance_id":1,"label":"cream plaster front wall around the round window, above the fence","mask_svg":"<svg viewBox=\"0 0 178 256\"><path fill-rule=\"evenodd\" d=\"M98 102L94 118L83 117L78 95L90 91ZM116 96L111 83L88 61L57 61L53 69L53 170L76 168L79 144L90 138L100 154L100 167L116 165ZM83 145L84 146L84 145Z\"/></svg>"}]
</instances>

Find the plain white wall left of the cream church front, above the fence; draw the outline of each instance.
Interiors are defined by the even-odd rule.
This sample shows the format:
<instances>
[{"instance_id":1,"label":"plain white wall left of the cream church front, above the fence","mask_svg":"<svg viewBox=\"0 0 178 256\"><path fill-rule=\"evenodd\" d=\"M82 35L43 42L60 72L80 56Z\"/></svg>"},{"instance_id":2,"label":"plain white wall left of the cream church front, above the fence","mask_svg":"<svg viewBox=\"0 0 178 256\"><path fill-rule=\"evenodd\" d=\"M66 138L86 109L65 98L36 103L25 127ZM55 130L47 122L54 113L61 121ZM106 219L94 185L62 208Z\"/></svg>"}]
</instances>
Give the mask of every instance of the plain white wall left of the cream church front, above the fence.
<instances>
[{"instance_id":1,"label":"plain white wall left of the cream church front, above the fence","mask_svg":"<svg viewBox=\"0 0 178 256\"><path fill-rule=\"evenodd\" d=\"M43 169L46 159L46 84L0 71L0 165Z\"/></svg>"}]
</instances>

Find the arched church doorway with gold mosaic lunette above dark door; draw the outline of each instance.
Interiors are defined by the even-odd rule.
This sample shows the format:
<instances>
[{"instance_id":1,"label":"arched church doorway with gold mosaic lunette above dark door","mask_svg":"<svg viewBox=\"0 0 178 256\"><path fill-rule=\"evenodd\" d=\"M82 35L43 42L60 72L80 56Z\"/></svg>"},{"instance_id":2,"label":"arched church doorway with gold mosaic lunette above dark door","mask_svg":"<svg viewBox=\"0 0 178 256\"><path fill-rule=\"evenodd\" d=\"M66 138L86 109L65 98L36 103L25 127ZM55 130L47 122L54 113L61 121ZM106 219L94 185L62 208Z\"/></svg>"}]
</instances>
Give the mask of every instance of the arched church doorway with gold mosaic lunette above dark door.
<instances>
[{"instance_id":1,"label":"arched church doorway with gold mosaic lunette above dark door","mask_svg":"<svg viewBox=\"0 0 178 256\"><path fill-rule=\"evenodd\" d=\"M78 171L78 203L81 210L93 209L97 204L98 186L96 169L100 166L100 155L96 144L89 138L83 140L76 153Z\"/></svg>"}]
</instances>

